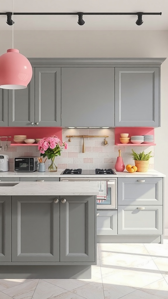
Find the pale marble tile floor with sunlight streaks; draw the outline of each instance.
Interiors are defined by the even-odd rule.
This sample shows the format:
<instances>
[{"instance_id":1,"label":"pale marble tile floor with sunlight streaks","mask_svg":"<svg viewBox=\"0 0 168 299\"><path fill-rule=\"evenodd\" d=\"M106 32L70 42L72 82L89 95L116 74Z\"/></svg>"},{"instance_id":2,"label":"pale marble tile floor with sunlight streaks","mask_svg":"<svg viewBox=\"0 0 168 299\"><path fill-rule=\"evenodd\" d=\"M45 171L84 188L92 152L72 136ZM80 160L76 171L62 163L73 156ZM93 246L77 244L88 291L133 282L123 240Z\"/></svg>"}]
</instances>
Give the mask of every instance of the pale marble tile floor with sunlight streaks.
<instances>
[{"instance_id":1,"label":"pale marble tile floor with sunlight streaks","mask_svg":"<svg viewBox=\"0 0 168 299\"><path fill-rule=\"evenodd\" d=\"M0 299L167 299L164 244L97 244L91 279L0 279Z\"/></svg>"}]
</instances>

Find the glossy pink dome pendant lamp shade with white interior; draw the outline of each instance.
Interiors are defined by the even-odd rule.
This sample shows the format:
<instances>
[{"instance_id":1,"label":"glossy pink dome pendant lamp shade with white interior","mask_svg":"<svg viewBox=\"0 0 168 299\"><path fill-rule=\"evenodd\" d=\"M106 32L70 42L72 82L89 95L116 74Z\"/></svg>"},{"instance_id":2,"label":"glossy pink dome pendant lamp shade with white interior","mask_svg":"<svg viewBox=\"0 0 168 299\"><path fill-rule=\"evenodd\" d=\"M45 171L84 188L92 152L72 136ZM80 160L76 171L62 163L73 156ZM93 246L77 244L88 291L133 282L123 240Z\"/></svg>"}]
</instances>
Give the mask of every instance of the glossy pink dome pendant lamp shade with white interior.
<instances>
[{"instance_id":1,"label":"glossy pink dome pendant lamp shade with white interior","mask_svg":"<svg viewBox=\"0 0 168 299\"><path fill-rule=\"evenodd\" d=\"M31 64L19 50L8 49L0 56L0 88L24 89L31 78Z\"/></svg>"}]
</instances>

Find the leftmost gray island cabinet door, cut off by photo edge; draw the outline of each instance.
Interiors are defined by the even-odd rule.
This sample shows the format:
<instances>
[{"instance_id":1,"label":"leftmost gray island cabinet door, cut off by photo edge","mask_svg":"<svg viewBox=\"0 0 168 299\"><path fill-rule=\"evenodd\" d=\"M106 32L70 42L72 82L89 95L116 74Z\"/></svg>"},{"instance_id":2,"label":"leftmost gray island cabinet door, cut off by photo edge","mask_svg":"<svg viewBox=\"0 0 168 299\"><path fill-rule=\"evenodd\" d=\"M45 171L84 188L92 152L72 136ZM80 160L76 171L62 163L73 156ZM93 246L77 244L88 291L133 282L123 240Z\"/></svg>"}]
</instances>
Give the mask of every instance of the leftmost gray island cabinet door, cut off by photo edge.
<instances>
[{"instance_id":1,"label":"leftmost gray island cabinet door, cut off by photo edge","mask_svg":"<svg viewBox=\"0 0 168 299\"><path fill-rule=\"evenodd\" d=\"M0 196L0 262L11 262L11 196Z\"/></svg>"}]
</instances>

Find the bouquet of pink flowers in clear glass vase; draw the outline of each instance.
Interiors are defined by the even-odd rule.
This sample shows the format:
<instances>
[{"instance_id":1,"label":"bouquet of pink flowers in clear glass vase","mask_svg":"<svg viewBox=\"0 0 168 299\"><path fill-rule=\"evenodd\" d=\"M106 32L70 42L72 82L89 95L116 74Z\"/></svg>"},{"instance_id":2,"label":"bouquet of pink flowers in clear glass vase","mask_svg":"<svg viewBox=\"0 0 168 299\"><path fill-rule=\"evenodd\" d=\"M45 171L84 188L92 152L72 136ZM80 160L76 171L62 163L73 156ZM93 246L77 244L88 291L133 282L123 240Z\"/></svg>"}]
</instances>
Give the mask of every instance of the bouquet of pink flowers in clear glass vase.
<instances>
[{"instance_id":1,"label":"bouquet of pink flowers in clear glass vase","mask_svg":"<svg viewBox=\"0 0 168 299\"><path fill-rule=\"evenodd\" d=\"M38 142L38 149L40 151L40 155L43 156L43 158L47 157L48 159L51 159L51 164L48 167L49 171L57 171L57 167L54 163L54 159L56 156L60 156L62 149L68 148L68 144L66 142L62 142L62 145L59 144L61 140L57 136L51 136L47 138L42 138ZM55 167L54 167L55 166ZM56 170L54 170L54 168Z\"/></svg>"}]
</instances>

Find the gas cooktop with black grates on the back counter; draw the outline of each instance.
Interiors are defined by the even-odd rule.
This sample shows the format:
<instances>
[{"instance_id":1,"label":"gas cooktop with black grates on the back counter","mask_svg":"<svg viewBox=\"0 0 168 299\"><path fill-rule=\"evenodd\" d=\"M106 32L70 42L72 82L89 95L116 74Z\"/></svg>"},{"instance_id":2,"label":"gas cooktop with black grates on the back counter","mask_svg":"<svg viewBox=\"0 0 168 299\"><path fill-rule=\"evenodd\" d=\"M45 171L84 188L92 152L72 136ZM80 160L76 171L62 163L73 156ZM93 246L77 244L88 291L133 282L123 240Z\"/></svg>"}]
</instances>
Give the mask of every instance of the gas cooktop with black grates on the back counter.
<instances>
[{"instance_id":1,"label":"gas cooktop with black grates on the back counter","mask_svg":"<svg viewBox=\"0 0 168 299\"><path fill-rule=\"evenodd\" d=\"M89 170L83 170L81 168L78 169L65 169L61 174L70 174L70 175L80 175L80 174L97 174L97 175L105 175L105 174L110 174L110 175L116 175L116 173L110 168L110 169L89 169Z\"/></svg>"}]
</instances>

